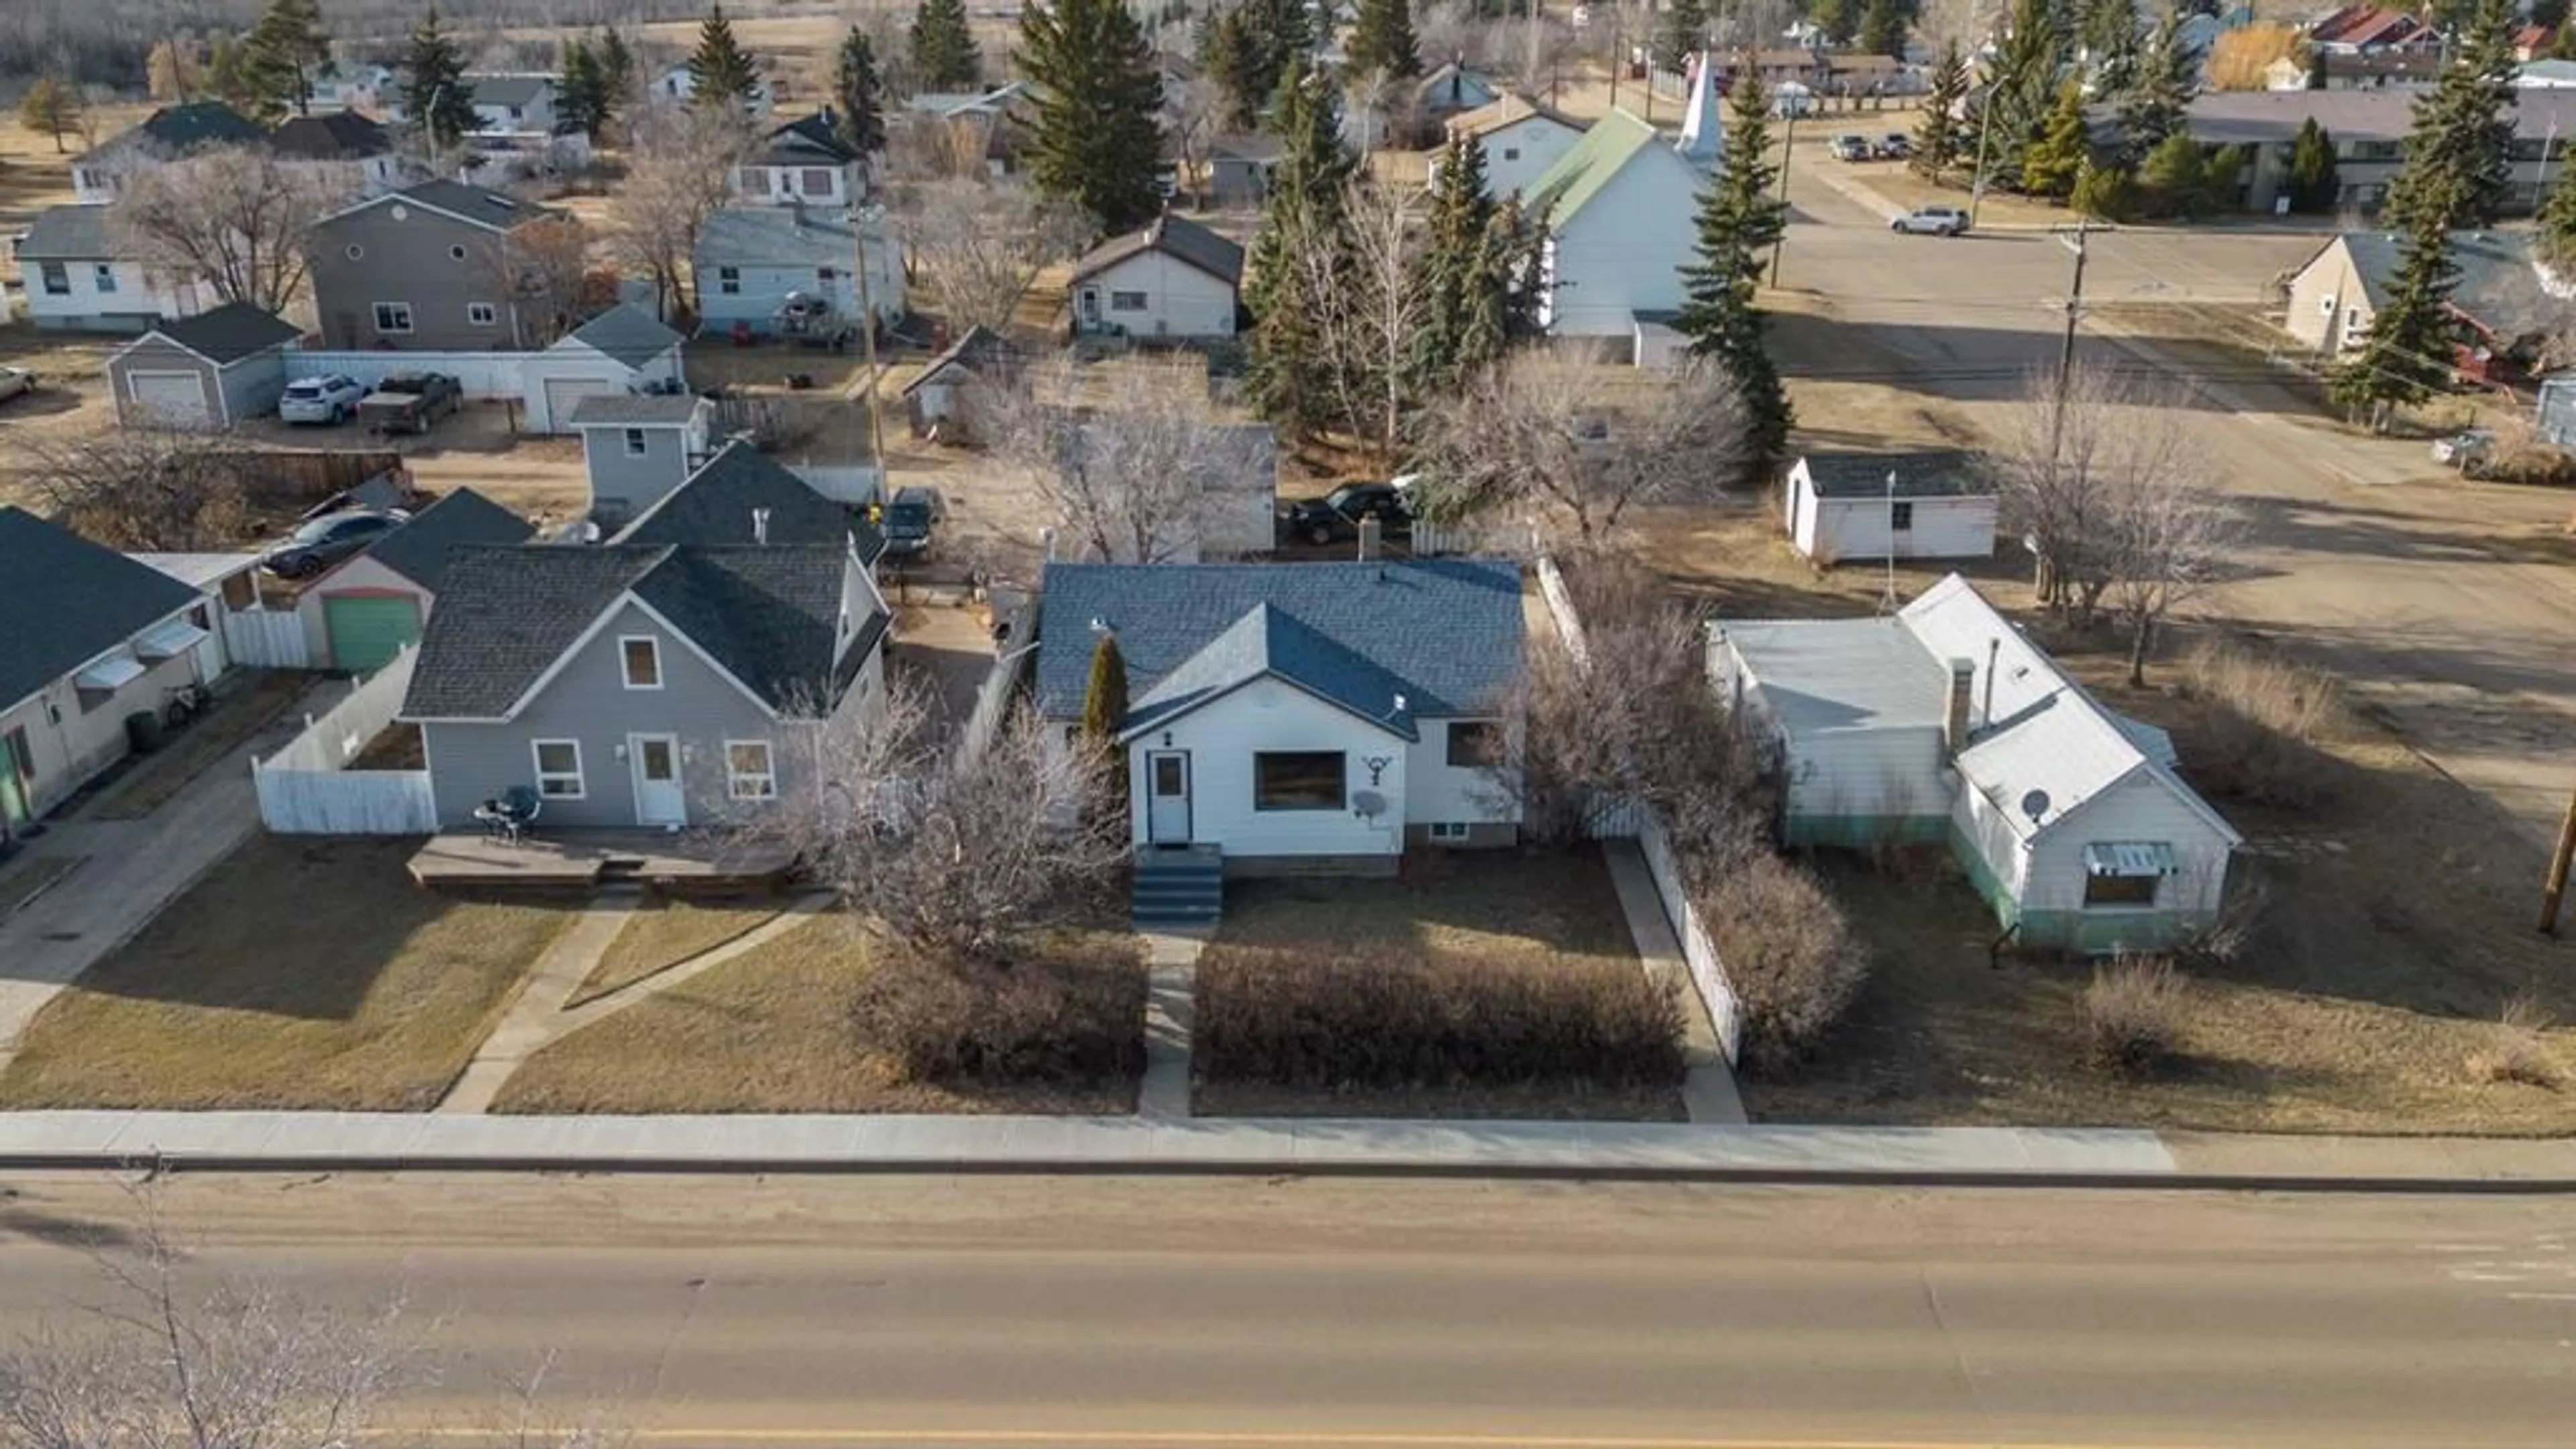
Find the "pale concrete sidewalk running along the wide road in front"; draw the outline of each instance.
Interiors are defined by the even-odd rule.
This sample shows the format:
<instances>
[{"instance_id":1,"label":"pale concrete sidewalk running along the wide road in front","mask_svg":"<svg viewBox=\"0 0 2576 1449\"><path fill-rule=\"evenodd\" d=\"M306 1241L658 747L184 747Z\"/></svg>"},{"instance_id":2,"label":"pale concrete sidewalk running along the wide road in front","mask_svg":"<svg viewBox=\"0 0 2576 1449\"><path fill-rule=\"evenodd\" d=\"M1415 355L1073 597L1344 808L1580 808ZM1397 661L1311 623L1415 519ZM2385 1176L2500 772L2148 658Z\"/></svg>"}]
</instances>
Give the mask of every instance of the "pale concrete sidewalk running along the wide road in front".
<instances>
[{"instance_id":1,"label":"pale concrete sidewalk running along the wide road in front","mask_svg":"<svg viewBox=\"0 0 2576 1449\"><path fill-rule=\"evenodd\" d=\"M0 1114L0 1168L1216 1173L2576 1191L2576 1142L1146 1116Z\"/></svg>"}]
</instances>

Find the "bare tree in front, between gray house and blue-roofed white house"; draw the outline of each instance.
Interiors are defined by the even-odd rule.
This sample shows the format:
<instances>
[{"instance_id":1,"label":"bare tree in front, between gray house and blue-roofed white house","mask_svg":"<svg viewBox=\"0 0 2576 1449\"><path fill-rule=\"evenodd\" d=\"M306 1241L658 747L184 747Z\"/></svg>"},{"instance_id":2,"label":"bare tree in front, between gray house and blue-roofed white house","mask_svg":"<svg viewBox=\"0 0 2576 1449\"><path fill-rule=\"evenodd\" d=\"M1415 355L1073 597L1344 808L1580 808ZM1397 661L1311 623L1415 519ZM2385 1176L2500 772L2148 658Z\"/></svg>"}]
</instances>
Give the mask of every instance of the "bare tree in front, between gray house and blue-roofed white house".
<instances>
[{"instance_id":1,"label":"bare tree in front, between gray house and blue-roofed white house","mask_svg":"<svg viewBox=\"0 0 2576 1449\"><path fill-rule=\"evenodd\" d=\"M992 959L1007 936L1079 913L1126 859L1100 753L1033 714L958 750L927 691L894 678L878 709L842 709L806 748L829 784L760 828L786 830L814 879L907 946Z\"/></svg>"}]
</instances>

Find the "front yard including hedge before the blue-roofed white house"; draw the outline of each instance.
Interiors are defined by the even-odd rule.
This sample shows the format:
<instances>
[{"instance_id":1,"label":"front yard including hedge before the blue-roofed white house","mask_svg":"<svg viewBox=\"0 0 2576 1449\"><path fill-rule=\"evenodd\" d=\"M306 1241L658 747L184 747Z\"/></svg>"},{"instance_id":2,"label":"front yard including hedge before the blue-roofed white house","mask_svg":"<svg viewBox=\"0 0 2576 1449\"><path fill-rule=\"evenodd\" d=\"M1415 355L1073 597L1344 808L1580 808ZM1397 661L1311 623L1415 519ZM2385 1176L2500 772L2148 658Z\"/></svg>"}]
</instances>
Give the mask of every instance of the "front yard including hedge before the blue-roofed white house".
<instances>
[{"instance_id":1,"label":"front yard including hedge before the blue-roofed white house","mask_svg":"<svg viewBox=\"0 0 2576 1449\"><path fill-rule=\"evenodd\" d=\"M1198 962L1200 1116L1680 1122L1682 1016L1597 851L1234 882Z\"/></svg>"}]
</instances>

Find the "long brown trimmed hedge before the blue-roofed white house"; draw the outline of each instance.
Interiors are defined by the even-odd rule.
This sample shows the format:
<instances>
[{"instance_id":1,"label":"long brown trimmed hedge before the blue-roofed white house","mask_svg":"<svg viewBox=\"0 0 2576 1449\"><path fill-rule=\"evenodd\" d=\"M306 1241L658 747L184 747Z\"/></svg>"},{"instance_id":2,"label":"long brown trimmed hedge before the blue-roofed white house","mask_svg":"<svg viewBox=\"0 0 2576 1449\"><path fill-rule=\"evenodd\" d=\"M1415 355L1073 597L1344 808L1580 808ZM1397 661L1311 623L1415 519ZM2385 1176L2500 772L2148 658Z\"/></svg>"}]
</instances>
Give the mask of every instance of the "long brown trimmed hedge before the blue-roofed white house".
<instances>
[{"instance_id":1,"label":"long brown trimmed hedge before the blue-roofed white house","mask_svg":"<svg viewBox=\"0 0 2576 1449\"><path fill-rule=\"evenodd\" d=\"M1198 967L1200 1080L1283 1088L1680 1085L1682 1003L1643 969L1229 949Z\"/></svg>"}]
</instances>

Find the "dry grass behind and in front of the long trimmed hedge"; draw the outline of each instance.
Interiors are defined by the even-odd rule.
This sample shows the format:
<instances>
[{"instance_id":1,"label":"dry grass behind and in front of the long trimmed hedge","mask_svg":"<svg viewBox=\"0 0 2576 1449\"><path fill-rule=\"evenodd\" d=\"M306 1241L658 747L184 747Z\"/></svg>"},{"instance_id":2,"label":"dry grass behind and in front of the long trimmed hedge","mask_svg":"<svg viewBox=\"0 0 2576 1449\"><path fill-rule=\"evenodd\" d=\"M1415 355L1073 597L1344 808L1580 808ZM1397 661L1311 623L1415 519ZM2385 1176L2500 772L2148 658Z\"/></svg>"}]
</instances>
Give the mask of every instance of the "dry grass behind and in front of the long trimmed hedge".
<instances>
[{"instance_id":1,"label":"dry grass behind and in front of the long trimmed hedge","mask_svg":"<svg viewBox=\"0 0 2576 1449\"><path fill-rule=\"evenodd\" d=\"M1301 951L1373 957L1386 969L1641 972L1610 871L1597 853L1435 853L1404 879L1234 882L1203 972ZM1437 1116L1680 1122L1669 1088L1288 1091L1200 1083L1200 1116Z\"/></svg>"}]
</instances>

